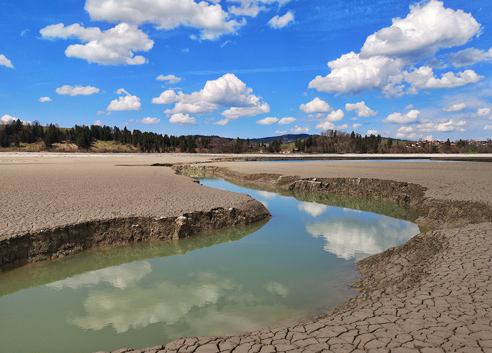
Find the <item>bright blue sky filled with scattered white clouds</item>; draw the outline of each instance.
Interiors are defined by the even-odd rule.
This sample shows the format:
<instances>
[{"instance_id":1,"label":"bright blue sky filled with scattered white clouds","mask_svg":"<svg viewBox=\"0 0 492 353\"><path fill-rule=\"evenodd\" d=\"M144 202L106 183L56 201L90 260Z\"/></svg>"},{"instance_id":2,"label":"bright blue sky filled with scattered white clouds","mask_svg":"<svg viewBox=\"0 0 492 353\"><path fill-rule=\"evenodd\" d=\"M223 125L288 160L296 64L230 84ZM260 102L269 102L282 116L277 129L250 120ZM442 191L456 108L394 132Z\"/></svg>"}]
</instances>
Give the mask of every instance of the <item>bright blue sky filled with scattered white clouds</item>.
<instances>
[{"instance_id":1,"label":"bright blue sky filled with scattered white clouds","mask_svg":"<svg viewBox=\"0 0 492 353\"><path fill-rule=\"evenodd\" d=\"M490 0L3 0L2 123L492 138Z\"/></svg>"}]
</instances>

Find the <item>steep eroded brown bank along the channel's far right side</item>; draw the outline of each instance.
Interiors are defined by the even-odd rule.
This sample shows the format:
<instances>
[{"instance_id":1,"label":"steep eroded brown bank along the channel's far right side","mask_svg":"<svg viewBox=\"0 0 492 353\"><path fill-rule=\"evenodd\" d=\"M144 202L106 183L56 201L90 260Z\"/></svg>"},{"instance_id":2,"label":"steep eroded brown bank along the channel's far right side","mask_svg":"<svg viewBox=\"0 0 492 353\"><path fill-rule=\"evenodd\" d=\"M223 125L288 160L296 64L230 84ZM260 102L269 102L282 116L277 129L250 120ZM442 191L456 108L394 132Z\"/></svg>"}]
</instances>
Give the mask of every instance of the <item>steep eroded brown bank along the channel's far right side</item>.
<instances>
[{"instance_id":1,"label":"steep eroded brown bank along the channel's far right side","mask_svg":"<svg viewBox=\"0 0 492 353\"><path fill-rule=\"evenodd\" d=\"M175 165L178 174L215 175L246 183L322 194L366 197L406 205L418 211L417 223L431 228L450 228L492 221L492 206L472 201L438 200L425 197L426 188L411 182L374 178L300 178L280 174L242 174L227 168L204 165Z\"/></svg>"}]
</instances>

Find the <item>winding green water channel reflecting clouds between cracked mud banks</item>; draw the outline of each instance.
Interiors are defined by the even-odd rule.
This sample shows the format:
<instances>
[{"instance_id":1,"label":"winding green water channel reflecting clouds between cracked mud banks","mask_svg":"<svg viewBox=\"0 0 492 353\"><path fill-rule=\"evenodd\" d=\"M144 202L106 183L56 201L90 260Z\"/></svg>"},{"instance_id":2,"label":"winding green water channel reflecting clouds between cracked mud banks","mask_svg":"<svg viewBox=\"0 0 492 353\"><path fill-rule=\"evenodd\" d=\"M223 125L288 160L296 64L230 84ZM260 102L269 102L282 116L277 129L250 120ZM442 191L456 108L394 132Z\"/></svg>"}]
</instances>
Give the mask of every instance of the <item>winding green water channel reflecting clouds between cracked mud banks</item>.
<instances>
[{"instance_id":1,"label":"winding green water channel reflecting clouds between cracked mud banks","mask_svg":"<svg viewBox=\"0 0 492 353\"><path fill-rule=\"evenodd\" d=\"M419 233L415 214L391 204L202 184L248 193L273 218L1 273L0 352L138 349L295 323L357 294L356 259Z\"/></svg>"}]
</instances>

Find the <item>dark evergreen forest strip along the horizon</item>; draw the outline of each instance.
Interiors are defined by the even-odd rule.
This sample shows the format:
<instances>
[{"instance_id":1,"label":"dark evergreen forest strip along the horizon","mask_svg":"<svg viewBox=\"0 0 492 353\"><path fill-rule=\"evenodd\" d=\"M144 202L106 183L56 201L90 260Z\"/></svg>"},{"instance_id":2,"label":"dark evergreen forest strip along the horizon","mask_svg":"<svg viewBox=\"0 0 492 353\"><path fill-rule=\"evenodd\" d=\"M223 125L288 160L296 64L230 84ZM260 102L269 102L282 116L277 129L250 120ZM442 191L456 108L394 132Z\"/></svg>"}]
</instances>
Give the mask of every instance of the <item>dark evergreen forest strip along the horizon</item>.
<instances>
[{"instance_id":1,"label":"dark evergreen forest strip along the horizon","mask_svg":"<svg viewBox=\"0 0 492 353\"><path fill-rule=\"evenodd\" d=\"M258 140L258 139L255 139ZM99 144L98 144L99 143ZM106 144L102 144L106 143ZM108 145L109 143L109 145ZM282 139L271 142L219 136L181 135L168 136L154 132L130 131L117 126L75 125L60 128L57 124L42 126L38 121L24 125L21 120L0 125L0 151L62 151L62 152L185 152L185 153L490 153L492 142L478 143L459 140L434 143L398 141L381 135L362 136L338 130L327 130L319 135L284 143ZM98 145L104 147L97 147ZM415 144L414 144L415 145ZM109 146L109 147L108 147ZM35 148L34 148L35 147Z\"/></svg>"}]
</instances>

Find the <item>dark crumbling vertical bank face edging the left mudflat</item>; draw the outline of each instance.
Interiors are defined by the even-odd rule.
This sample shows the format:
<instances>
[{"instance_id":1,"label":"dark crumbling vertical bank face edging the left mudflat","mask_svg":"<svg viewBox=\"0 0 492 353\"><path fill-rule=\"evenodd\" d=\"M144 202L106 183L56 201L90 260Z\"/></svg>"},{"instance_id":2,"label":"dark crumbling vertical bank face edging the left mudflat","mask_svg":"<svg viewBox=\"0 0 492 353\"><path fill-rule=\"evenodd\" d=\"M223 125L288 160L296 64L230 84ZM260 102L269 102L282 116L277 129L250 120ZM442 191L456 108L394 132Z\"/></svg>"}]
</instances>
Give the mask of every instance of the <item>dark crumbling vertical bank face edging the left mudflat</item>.
<instances>
[{"instance_id":1,"label":"dark crumbling vertical bank face edging the left mudflat","mask_svg":"<svg viewBox=\"0 0 492 353\"><path fill-rule=\"evenodd\" d=\"M271 217L254 199L239 207L188 212L179 217L129 217L69 224L0 238L0 272L56 259L94 246L131 241L179 239L205 230L242 226Z\"/></svg>"}]
</instances>

